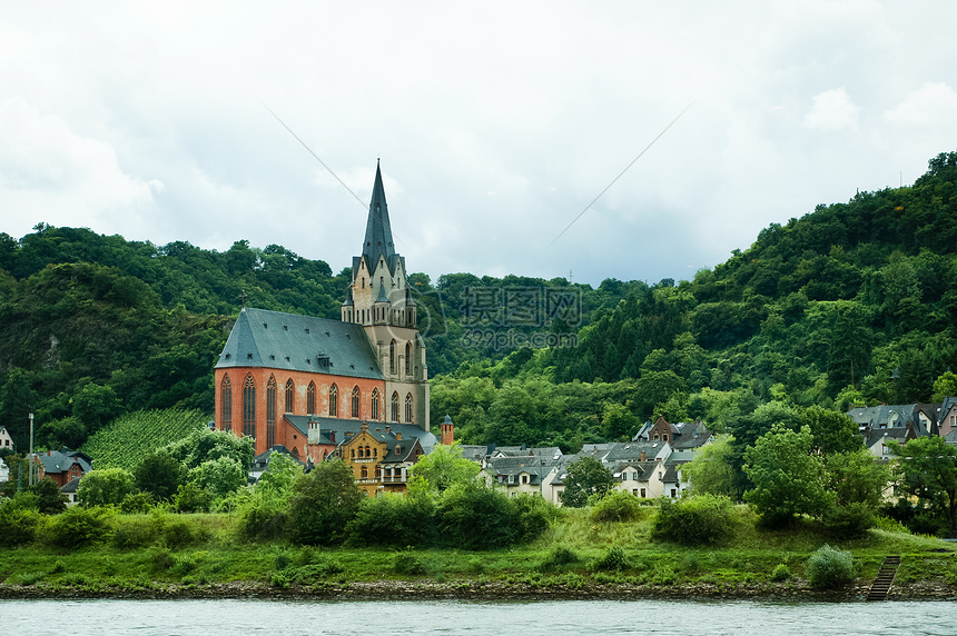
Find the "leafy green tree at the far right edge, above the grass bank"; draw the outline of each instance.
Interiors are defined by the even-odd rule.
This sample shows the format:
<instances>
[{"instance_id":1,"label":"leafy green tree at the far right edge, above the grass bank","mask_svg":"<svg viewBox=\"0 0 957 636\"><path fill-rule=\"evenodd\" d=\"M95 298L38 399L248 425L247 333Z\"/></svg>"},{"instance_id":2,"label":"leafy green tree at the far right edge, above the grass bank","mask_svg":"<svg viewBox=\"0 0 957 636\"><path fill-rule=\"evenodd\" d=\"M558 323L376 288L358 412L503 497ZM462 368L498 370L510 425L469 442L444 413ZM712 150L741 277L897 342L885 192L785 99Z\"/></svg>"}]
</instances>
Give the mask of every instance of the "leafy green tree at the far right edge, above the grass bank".
<instances>
[{"instance_id":1,"label":"leafy green tree at the far right edge, above the grass bank","mask_svg":"<svg viewBox=\"0 0 957 636\"><path fill-rule=\"evenodd\" d=\"M890 450L897 456L898 489L940 511L957 537L957 448L943 437L918 437Z\"/></svg>"}]
</instances>

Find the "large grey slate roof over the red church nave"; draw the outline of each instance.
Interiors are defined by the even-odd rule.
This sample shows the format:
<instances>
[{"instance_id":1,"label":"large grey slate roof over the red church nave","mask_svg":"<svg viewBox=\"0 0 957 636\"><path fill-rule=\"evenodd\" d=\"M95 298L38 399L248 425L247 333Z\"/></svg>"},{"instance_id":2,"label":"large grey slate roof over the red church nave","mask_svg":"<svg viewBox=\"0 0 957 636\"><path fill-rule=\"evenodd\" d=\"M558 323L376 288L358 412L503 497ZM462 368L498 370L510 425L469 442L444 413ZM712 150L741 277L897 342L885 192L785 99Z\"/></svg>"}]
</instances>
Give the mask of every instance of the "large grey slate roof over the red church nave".
<instances>
[{"instance_id":1,"label":"large grey slate roof over the red church nave","mask_svg":"<svg viewBox=\"0 0 957 636\"><path fill-rule=\"evenodd\" d=\"M265 367L384 379L362 325L244 307L217 369Z\"/></svg>"}]
</instances>

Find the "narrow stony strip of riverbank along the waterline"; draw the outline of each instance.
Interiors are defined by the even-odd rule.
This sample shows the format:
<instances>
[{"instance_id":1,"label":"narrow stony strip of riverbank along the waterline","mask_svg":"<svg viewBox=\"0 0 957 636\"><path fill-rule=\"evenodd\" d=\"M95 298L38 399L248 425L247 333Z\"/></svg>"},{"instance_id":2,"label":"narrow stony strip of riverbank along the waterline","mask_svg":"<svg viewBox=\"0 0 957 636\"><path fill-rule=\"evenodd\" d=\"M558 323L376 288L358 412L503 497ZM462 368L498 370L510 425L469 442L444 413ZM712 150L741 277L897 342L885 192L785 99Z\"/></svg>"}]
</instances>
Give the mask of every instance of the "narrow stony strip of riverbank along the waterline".
<instances>
[{"instance_id":1,"label":"narrow stony strip of riverbank along the waterline","mask_svg":"<svg viewBox=\"0 0 957 636\"><path fill-rule=\"evenodd\" d=\"M277 587L262 582L210 584L128 585L10 585L0 584L0 599L282 599L282 600L778 600L778 602L862 602L870 589L869 580L843 588L818 590L807 582L738 584L690 583L671 586L595 583L580 586L561 583L487 582L476 579L374 580L330 583L314 586ZM944 580L919 582L891 587L887 600L957 600L957 586Z\"/></svg>"}]
</instances>

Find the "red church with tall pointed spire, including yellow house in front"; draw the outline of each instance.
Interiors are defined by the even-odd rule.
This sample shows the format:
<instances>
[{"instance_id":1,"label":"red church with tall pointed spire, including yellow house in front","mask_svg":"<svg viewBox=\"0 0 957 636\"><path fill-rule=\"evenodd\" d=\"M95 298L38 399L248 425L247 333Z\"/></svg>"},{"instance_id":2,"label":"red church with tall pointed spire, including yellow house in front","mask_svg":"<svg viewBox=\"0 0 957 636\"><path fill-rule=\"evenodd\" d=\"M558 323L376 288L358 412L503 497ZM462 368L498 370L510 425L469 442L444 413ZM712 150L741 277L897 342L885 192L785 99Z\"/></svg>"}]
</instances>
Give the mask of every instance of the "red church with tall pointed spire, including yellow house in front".
<instances>
[{"instance_id":1,"label":"red church with tall pointed spire, including yellow house in front","mask_svg":"<svg viewBox=\"0 0 957 636\"><path fill-rule=\"evenodd\" d=\"M314 464L343 457L371 495L404 489L416 454L437 443L406 272L376 165L341 319L244 307L216 364L216 428L255 438L257 455L284 446ZM451 426L442 429L451 444Z\"/></svg>"}]
</instances>

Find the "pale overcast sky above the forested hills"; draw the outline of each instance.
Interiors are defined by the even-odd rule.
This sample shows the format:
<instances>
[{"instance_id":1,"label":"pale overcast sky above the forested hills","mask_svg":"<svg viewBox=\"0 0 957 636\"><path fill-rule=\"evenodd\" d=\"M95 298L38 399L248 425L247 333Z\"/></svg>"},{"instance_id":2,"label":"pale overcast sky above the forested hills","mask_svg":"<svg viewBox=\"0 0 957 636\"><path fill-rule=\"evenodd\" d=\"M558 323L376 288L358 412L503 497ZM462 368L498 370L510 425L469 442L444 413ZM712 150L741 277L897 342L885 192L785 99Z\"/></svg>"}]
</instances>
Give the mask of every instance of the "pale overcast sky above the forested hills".
<instances>
[{"instance_id":1,"label":"pale overcast sky above the forested hills","mask_svg":"<svg viewBox=\"0 0 957 636\"><path fill-rule=\"evenodd\" d=\"M412 271L689 279L957 150L955 24L953 0L4 0L0 231L338 271L381 157Z\"/></svg>"}]
</instances>

